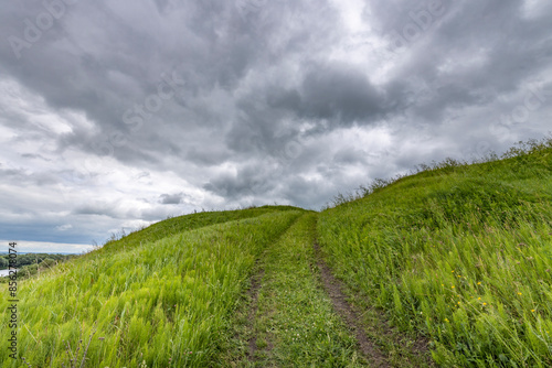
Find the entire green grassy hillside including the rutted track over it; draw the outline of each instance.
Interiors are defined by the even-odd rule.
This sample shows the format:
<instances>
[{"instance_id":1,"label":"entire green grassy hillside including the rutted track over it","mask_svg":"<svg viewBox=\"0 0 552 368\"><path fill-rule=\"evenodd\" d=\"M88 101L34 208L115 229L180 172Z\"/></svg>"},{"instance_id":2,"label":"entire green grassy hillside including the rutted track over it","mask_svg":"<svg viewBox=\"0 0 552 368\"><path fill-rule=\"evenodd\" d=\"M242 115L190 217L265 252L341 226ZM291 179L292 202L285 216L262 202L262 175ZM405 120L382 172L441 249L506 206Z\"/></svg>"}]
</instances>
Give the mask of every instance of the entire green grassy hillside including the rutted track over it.
<instances>
[{"instance_id":1,"label":"entire green grassy hillside including the rutted track over it","mask_svg":"<svg viewBox=\"0 0 552 368\"><path fill-rule=\"evenodd\" d=\"M552 141L384 184L320 213L171 218L22 281L18 356L32 367L552 366ZM1 367L28 367L8 355Z\"/></svg>"}]
</instances>

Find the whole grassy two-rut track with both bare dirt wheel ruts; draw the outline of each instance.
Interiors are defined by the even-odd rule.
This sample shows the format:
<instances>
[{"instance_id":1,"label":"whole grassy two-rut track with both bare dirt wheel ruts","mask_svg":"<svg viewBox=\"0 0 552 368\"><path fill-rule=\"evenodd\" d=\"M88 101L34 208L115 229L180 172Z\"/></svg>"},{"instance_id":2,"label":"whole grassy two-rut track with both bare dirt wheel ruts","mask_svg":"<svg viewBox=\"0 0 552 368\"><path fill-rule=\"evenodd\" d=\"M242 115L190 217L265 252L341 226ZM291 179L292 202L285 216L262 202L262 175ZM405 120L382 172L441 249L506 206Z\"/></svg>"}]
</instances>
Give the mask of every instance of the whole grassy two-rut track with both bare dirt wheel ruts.
<instances>
[{"instance_id":1,"label":"whole grassy two-rut track with both bare dirt wheel ruts","mask_svg":"<svg viewBox=\"0 0 552 368\"><path fill-rule=\"evenodd\" d=\"M231 366L432 367L426 342L390 327L332 274L316 221L300 216L257 260Z\"/></svg>"}]
</instances>

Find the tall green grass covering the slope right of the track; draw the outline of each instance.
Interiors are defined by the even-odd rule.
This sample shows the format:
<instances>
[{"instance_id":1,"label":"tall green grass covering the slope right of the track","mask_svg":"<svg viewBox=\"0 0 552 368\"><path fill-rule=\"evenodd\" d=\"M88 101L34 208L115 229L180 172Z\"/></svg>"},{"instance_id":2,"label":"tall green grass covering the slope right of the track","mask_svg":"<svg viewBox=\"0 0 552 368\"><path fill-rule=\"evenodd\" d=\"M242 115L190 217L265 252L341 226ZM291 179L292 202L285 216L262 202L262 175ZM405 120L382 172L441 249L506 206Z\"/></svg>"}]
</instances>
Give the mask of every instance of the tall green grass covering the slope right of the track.
<instances>
[{"instance_id":1,"label":"tall green grass covering the slope right of the track","mask_svg":"<svg viewBox=\"0 0 552 368\"><path fill-rule=\"evenodd\" d=\"M349 285L438 364L552 366L552 141L443 164L320 214Z\"/></svg>"}]
</instances>

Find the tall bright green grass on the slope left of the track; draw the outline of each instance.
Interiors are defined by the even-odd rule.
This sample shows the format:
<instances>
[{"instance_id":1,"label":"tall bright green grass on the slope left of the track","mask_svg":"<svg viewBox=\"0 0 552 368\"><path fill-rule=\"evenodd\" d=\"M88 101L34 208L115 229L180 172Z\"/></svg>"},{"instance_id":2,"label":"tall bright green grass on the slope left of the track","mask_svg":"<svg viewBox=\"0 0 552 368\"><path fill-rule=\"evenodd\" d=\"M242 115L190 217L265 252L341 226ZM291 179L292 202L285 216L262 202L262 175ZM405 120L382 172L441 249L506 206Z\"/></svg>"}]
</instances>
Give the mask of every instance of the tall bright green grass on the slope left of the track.
<instances>
[{"instance_id":1,"label":"tall bright green grass on the slope left of the track","mask_svg":"<svg viewBox=\"0 0 552 368\"><path fill-rule=\"evenodd\" d=\"M20 357L33 367L60 367L67 342L77 346L96 331L86 367L208 366L255 259L299 214L273 210L158 234L155 241L135 236L131 247L113 242L22 282ZM0 327L9 331L1 297ZM0 349L1 367L20 367L8 354Z\"/></svg>"}]
</instances>

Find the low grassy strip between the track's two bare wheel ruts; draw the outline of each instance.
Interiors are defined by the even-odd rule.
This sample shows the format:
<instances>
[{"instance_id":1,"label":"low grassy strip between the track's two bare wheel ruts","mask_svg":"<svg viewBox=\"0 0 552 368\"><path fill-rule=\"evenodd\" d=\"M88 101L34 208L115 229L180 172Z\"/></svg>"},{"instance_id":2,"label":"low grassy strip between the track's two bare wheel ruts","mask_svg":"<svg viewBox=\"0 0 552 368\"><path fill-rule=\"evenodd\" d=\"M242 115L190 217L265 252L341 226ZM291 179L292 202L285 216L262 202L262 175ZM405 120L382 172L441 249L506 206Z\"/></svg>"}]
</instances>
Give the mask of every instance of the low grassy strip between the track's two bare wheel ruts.
<instances>
[{"instance_id":1,"label":"low grassy strip between the track's two bare wheel ruts","mask_svg":"<svg viewBox=\"0 0 552 368\"><path fill-rule=\"evenodd\" d=\"M263 256L264 273L252 281L248 367L365 366L320 283L315 226L306 213Z\"/></svg>"}]
</instances>

